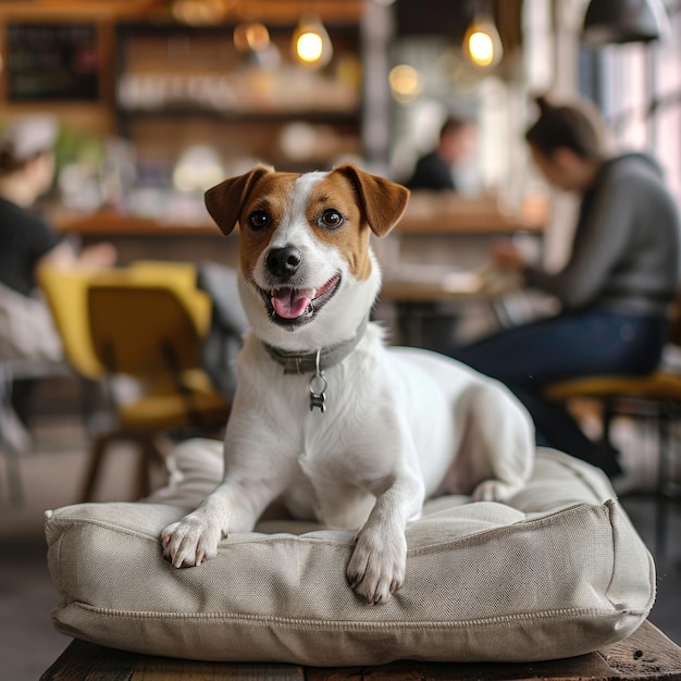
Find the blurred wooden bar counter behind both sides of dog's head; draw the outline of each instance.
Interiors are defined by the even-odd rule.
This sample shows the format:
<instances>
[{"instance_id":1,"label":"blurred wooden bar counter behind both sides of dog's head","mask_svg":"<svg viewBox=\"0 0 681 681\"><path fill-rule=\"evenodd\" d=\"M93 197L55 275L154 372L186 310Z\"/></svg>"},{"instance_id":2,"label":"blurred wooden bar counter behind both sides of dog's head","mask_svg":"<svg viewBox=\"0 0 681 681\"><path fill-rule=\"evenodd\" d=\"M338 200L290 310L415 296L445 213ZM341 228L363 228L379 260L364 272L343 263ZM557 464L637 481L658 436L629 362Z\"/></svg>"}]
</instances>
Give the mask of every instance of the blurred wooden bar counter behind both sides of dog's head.
<instances>
[{"instance_id":1,"label":"blurred wooden bar counter behind both sides of dog's head","mask_svg":"<svg viewBox=\"0 0 681 681\"><path fill-rule=\"evenodd\" d=\"M485 262L490 242L495 238L521 232L541 242L546 211L543 206L527 208L510 215L490 199L413 194L396 228L388 237L376 240L376 256L388 276L405 263L479 267ZM101 210L81 215L54 213L51 221L62 234L77 238L84 246L112 243L120 264L159 259L210 260L236 267L238 231L225 238L202 206L193 214L199 218L152 219Z\"/></svg>"}]
</instances>

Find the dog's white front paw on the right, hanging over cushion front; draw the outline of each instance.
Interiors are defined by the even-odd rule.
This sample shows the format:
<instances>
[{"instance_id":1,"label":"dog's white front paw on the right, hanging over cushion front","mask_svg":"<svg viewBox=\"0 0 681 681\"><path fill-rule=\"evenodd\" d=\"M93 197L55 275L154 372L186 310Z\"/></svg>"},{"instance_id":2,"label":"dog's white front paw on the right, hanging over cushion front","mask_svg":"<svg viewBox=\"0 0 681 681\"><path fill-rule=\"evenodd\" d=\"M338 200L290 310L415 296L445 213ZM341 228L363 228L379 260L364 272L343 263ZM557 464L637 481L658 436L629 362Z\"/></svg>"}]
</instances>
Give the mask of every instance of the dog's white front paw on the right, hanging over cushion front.
<instances>
[{"instance_id":1,"label":"dog's white front paw on the right, hanging over cushion front","mask_svg":"<svg viewBox=\"0 0 681 681\"><path fill-rule=\"evenodd\" d=\"M404 533L385 536L364 525L357 534L347 578L358 596L377 605L389 600L403 585L406 567L407 540Z\"/></svg>"}]
</instances>

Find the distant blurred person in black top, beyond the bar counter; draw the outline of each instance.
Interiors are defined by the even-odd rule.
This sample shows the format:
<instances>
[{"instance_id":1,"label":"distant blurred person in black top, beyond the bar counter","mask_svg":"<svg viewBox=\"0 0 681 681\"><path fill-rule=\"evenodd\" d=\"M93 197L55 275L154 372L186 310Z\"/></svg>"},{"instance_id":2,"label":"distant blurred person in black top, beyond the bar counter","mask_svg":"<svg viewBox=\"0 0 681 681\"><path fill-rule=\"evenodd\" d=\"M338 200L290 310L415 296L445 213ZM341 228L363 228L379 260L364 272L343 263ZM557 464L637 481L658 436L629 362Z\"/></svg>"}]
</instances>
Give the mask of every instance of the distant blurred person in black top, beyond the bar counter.
<instances>
[{"instance_id":1,"label":"distant blurred person in black top, beyond the bar counter","mask_svg":"<svg viewBox=\"0 0 681 681\"><path fill-rule=\"evenodd\" d=\"M450 115L439 129L437 144L432 151L422 156L405 183L410 189L431 191L457 191L455 168L472 152L475 128L468 120Z\"/></svg>"}]
</instances>

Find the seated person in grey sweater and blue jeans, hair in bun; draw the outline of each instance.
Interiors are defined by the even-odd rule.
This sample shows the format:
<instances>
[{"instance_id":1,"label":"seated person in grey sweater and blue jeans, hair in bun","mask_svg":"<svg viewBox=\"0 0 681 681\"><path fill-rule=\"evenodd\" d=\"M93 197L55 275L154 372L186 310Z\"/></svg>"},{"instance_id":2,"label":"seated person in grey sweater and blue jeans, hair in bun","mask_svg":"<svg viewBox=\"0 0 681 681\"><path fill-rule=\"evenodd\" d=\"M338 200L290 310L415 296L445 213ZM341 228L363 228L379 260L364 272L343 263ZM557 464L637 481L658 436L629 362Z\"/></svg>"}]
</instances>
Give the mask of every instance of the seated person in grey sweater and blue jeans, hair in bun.
<instances>
[{"instance_id":1,"label":"seated person in grey sweater and blue jeans, hair in bun","mask_svg":"<svg viewBox=\"0 0 681 681\"><path fill-rule=\"evenodd\" d=\"M554 186L575 193L580 211L571 253L558 272L525 261L511 243L493 249L497 268L561 304L555 317L500 331L449 354L505 383L525 405L537 443L622 472L618 451L594 443L560 404L553 382L653 371L667 340L680 275L680 222L657 162L608 152L604 122L585 101L536 100L525 133L534 163Z\"/></svg>"}]
</instances>

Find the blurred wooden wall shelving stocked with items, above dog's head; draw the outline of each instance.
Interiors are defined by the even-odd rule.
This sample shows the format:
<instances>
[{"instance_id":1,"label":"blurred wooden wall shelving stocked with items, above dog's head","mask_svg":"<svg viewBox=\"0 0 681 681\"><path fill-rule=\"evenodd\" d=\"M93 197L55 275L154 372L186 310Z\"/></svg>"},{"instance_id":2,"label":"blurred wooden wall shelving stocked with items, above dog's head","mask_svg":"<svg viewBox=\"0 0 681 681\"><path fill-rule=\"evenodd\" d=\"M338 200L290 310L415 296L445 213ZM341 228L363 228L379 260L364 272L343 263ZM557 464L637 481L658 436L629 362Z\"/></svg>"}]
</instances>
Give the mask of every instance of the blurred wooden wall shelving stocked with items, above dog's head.
<instances>
[{"instance_id":1,"label":"blurred wooden wall shelving stocked with items, above dog's head","mask_svg":"<svg viewBox=\"0 0 681 681\"><path fill-rule=\"evenodd\" d=\"M295 25L268 23L273 61L261 67L237 50L234 24L120 24L115 110L140 161L172 163L194 145L211 146L226 163L262 159L285 170L361 154L359 24L327 24L334 58L321 71L287 57ZM298 122L308 125L300 157L286 149L287 126Z\"/></svg>"}]
</instances>

